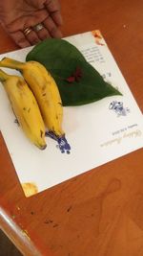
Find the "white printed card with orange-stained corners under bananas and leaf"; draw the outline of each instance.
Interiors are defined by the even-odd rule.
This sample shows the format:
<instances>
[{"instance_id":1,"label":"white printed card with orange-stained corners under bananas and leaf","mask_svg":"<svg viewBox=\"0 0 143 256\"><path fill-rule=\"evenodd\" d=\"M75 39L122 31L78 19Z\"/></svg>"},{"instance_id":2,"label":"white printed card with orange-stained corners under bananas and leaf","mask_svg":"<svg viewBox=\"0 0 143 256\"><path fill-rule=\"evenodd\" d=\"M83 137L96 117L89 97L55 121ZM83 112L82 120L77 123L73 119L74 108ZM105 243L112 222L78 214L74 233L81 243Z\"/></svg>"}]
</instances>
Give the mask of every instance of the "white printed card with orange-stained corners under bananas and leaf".
<instances>
[{"instance_id":1,"label":"white printed card with orange-stained corners under bananas and leaf","mask_svg":"<svg viewBox=\"0 0 143 256\"><path fill-rule=\"evenodd\" d=\"M61 153L57 143L49 137L45 151L31 145L22 129L13 122L10 102L0 86L0 128L26 197L143 147L142 113L100 32L65 39L123 96L64 107L63 128L72 148L68 154ZM1 55L0 59L10 57L23 61L31 48ZM5 70L19 75L14 70Z\"/></svg>"}]
</instances>

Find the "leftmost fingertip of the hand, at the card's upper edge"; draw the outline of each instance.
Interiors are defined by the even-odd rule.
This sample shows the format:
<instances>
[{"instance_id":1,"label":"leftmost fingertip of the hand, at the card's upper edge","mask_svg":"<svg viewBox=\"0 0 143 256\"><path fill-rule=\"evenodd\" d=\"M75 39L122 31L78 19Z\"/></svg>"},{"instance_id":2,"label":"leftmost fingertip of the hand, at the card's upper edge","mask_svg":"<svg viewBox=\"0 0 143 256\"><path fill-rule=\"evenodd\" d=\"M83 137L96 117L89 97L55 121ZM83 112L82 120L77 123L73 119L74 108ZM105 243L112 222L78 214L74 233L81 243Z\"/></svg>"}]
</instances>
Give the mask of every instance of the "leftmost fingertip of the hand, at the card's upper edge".
<instances>
[{"instance_id":1,"label":"leftmost fingertip of the hand, at the card's upper edge","mask_svg":"<svg viewBox=\"0 0 143 256\"><path fill-rule=\"evenodd\" d=\"M31 43L28 41L28 39L21 31L10 33L10 37L21 48L31 46Z\"/></svg>"}]
</instances>

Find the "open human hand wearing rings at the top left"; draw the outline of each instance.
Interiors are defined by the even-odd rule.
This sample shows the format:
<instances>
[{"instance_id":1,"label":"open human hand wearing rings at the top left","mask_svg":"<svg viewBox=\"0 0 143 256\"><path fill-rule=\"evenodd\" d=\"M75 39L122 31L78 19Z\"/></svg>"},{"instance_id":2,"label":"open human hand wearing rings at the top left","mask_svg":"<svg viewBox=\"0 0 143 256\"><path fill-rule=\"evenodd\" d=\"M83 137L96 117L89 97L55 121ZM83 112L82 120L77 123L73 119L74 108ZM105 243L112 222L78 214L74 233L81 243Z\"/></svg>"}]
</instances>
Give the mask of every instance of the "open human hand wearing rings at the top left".
<instances>
[{"instance_id":1,"label":"open human hand wearing rings at the top left","mask_svg":"<svg viewBox=\"0 0 143 256\"><path fill-rule=\"evenodd\" d=\"M0 21L21 48L47 37L62 37L62 16L58 0L5 0L0 2ZM38 31L37 24L39 26ZM24 33L25 32L25 33Z\"/></svg>"}]
</instances>

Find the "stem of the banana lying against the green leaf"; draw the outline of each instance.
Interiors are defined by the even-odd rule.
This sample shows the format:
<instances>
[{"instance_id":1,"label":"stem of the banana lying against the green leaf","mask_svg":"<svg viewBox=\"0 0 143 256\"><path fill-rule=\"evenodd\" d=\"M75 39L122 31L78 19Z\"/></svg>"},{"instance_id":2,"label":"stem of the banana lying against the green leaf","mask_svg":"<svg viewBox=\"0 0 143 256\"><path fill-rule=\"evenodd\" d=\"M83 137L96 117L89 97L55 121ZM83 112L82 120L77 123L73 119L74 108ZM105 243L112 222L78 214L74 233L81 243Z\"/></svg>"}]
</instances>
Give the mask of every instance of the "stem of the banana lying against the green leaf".
<instances>
[{"instance_id":1,"label":"stem of the banana lying against the green leaf","mask_svg":"<svg viewBox=\"0 0 143 256\"><path fill-rule=\"evenodd\" d=\"M24 62L12 59L12 58L2 58L0 61L0 67L8 67L11 69L23 70Z\"/></svg>"}]
</instances>

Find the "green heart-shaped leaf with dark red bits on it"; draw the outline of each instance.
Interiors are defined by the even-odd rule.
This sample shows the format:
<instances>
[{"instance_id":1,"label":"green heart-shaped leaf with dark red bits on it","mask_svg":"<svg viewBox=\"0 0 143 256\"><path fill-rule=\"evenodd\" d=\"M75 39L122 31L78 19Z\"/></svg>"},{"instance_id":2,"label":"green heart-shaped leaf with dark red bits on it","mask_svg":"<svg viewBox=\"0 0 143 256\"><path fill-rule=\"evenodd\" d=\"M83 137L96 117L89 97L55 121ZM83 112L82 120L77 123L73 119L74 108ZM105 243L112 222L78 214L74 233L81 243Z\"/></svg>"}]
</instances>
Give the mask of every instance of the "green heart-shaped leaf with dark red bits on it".
<instances>
[{"instance_id":1,"label":"green heart-shaped leaf with dark red bits on it","mask_svg":"<svg viewBox=\"0 0 143 256\"><path fill-rule=\"evenodd\" d=\"M121 95L66 40L47 39L36 45L26 60L39 61L51 72L63 105L85 105L108 96Z\"/></svg>"}]
</instances>

